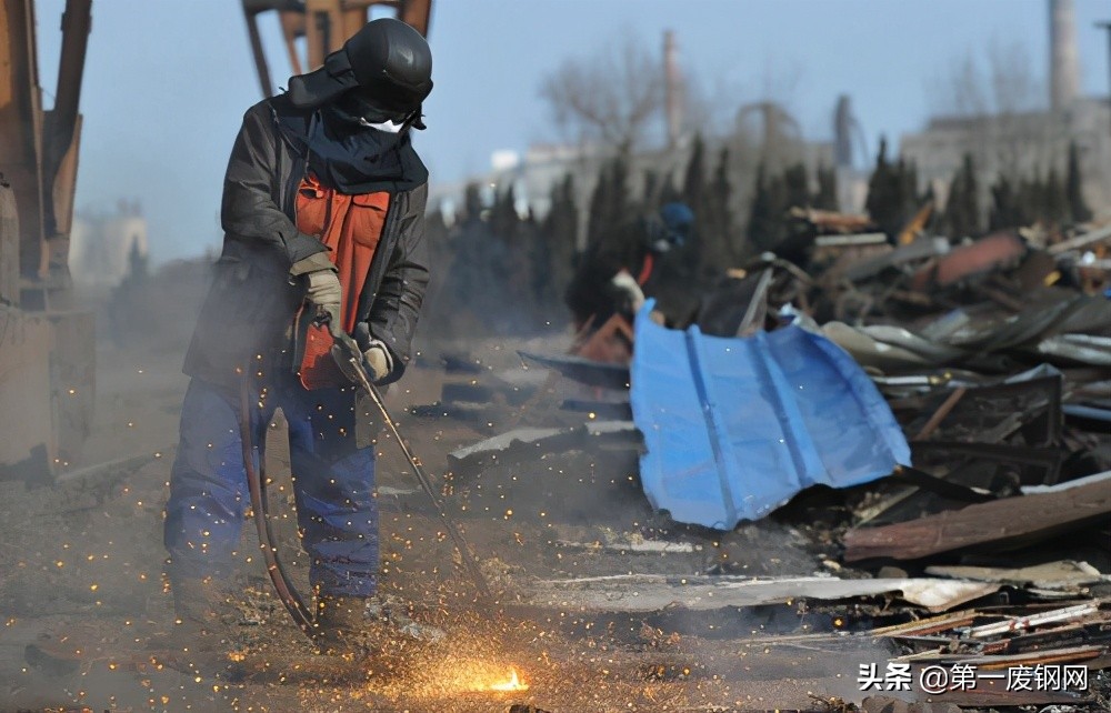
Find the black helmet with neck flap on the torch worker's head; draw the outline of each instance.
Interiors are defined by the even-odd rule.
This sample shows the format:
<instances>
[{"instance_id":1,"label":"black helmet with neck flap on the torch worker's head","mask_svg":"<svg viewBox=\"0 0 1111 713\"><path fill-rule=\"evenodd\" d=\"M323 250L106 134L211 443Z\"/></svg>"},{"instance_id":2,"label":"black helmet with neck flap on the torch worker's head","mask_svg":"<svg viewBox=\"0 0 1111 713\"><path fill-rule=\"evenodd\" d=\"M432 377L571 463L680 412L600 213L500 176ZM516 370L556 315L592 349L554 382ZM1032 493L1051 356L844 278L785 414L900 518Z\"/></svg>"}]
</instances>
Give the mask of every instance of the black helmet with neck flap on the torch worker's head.
<instances>
[{"instance_id":1,"label":"black helmet with neck flap on the torch worker's head","mask_svg":"<svg viewBox=\"0 0 1111 713\"><path fill-rule=\"evenodd\" d=\"M419 111L432 91L428 42L401 20L381 18L329 54L323 67L289 80L290 100L297 107L319 107L351 90L387 114Z\"/></svg>"}]
</instances>

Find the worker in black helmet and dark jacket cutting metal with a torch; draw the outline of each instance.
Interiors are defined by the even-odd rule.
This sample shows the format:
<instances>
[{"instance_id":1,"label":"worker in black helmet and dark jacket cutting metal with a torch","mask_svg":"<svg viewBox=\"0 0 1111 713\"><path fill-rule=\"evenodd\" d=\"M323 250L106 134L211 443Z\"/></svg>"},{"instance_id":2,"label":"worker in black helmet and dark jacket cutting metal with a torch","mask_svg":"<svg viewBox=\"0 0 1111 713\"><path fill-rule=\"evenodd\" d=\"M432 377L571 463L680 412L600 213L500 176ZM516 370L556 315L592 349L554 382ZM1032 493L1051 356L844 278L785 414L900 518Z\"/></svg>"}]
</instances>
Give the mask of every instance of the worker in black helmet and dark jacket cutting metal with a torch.
<instances>
[{"instance_id":1,"label":"worker in black helmet and dark jacket cutting metal with a torch","mask_svg":"<svg viewBox=\"0 0 1111 713\"><path fill-rule=\"evenodd\" d=\"M321 649L357 645L378 590L376 433L331 330L353 337L377 384L401 378L429 280L428 171L411 132L431 69L417 30L373 20L243 118L166 505L177 617L208 643L250 503L241 428L260 442L280 408Z\"/></svg>"}]
</instances>

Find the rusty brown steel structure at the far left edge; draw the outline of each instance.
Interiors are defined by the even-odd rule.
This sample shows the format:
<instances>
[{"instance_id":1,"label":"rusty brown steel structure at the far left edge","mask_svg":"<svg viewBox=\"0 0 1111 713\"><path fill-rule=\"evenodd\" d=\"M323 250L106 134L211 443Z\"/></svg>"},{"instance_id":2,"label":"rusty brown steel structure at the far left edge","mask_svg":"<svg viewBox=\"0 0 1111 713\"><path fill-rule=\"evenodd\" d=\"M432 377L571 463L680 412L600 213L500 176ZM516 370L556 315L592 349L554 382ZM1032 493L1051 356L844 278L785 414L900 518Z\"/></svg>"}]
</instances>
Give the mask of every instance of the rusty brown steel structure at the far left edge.
<instances>
[{"instance_id":1,"label":"rusty brown steel structure at the far left edge","mask_svg":"<svg viewBox=\"0 0 1111 713\"><path fill-rule=\"evenodd\" d=\"M47 110L34 2L0 0L0 479L49 479L92 416L93 319L72 310L69 279L91 10L92 0L66 2Z\"/></svg>"}]
</instances>

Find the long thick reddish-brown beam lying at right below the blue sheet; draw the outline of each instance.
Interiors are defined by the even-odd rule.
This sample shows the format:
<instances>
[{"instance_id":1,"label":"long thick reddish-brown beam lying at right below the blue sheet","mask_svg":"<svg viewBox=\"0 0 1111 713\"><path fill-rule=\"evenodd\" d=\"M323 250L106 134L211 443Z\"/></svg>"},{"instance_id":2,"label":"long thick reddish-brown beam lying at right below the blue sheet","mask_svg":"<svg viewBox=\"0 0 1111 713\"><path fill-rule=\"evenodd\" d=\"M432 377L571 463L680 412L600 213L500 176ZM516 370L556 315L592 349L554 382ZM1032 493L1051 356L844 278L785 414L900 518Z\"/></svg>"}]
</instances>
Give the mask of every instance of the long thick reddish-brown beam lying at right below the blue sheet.
<instances>
[{"instance_id":1,"label":"long thick reddish-brown beam lying at right below the blue sheet","mask_svg":"<svg viewBox=\"0 0 1111 713\"><path fill-rule=\"evenodd\" d=\"M962 510L845 533L844 559L918 560L963 548L1013 540L1040 540L1089 523L1108 521L1111 480L1059 491L1007 498Z\"/></svg>"}]
</instances>

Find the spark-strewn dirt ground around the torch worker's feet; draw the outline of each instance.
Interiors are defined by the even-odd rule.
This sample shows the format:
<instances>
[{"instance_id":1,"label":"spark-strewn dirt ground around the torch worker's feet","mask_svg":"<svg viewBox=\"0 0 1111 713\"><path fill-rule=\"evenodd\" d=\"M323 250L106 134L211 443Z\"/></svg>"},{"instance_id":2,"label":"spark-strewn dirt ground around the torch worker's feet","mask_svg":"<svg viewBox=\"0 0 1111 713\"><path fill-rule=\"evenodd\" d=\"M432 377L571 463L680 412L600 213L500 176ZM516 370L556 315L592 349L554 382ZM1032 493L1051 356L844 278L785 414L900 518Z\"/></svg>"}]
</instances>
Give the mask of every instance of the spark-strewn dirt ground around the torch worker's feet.
<instances>
[{"instance_id":1,"label":"spark-strewn dirt ground around the torch worker's feet","mask_svg":"<svg viewBox=\"0 0 1111 713\"><path fill-rule=\"evenodd\" d=\"M467 348L484 366L502 369L520 364L518 348L556 352L565 342L554 334ZM447 637L418 645L391 631L368 661L313 655L271 594L247 523L241 571L230 583L237 596L226 612L234 650L167 655L151 642L173 626L161 574L161 528L187 385L179 364L176 349L102 344L96 428L77 468L116 464L62 476L52 488L13 484L0 499L0 711L815 709L813 696L859 702L858 664L887 657L857 640L800 639L831 631L834 616L797 603L643 615L536 604L527 592L540 580L690 575L714 568L810 575L823 568L825 554L813 538L773 520L727 536L675 528L651 512L628 454L622 461L571 452L468 478L448 473L451 450L554 416L543 403L503 410L506 423L413 415L408 406L440 395L443 371L432 350L391 390L389 405L441 483L497 603L477 601L434 509L396 444L383 438L382 590ZM280 494L288 465L279 426L268 463ZM284 519L282 556L306 591L292 510L281 501L271 506ZM691 546L662 553L620 549L644 539ZM785 635L791 640L782 641ZM29 644L72 649L72 664L51 659L30 665ZM527 690L490 690L514 672Z\"/></svg>"}]
</instances>

